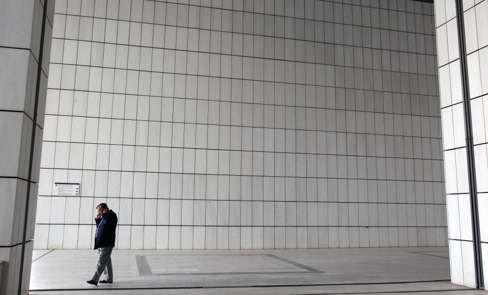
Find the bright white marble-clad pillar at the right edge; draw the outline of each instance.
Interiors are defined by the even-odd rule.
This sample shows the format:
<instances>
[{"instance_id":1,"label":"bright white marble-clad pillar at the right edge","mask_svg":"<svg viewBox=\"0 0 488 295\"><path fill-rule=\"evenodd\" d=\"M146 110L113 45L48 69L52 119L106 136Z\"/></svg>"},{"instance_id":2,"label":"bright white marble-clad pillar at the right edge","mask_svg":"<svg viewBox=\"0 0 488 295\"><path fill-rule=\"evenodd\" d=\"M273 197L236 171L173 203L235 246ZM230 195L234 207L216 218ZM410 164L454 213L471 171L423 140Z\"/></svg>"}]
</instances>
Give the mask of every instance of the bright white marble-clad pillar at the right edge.
<instances>
[{"instance_id":1,"label":"bright white marble-clad pillar at the right edge","mask_svg":"<svg viewBox=\"0 0 488 295\"><path fill-rule=\"evenodd\" d=\"M485 284L488 281L488 1L465 0L464 20ZM454 1L436 0L449 251L453 283L475 287L466 134Z\"/></svg>"}]
</instances>

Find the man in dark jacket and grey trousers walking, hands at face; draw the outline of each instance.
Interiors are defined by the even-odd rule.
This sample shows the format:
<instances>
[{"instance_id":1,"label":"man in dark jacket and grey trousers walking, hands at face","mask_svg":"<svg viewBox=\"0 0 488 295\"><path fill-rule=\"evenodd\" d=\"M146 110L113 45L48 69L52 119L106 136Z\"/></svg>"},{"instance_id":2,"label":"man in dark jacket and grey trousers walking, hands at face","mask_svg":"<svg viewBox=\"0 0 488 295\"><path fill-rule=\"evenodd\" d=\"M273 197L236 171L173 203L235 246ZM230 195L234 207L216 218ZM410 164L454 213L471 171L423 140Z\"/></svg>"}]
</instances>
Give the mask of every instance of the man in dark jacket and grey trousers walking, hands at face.
<instances>
[{"instance_id":1,"label":"man in dark jacket and grey trousers walking, hands at face","mask_svg":"<svg viewBox=\"0 0 488 295\"><path fill-rule=\"evenodd\" d=\"M98 285L98 283L112 283L112 259L110 254L113 247L115 247L115 229L117 227L117 214L108 209L107 204L101 203L97 206L97 230L95 231L95 250L98 249L98 264L97 270L90 281L87 283ZM102 272L106 279L98 281Z\"/></svg>"}]
</instances>

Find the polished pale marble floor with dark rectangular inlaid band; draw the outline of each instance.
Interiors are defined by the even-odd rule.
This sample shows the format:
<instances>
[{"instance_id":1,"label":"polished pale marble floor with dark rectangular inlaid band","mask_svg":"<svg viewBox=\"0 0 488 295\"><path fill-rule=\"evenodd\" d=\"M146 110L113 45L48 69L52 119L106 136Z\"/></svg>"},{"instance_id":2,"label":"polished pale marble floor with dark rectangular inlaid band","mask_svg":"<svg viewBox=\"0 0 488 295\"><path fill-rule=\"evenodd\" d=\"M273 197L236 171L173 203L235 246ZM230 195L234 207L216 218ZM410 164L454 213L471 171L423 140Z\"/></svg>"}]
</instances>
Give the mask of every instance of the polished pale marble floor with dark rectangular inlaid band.
<instances>
[{"instance_id":1,"label":"polished pale marble floor with dark rectangular inlaid band","mask_svg":"<svg viewBox=\"0 0 488 295\"><path fill-rule=\"evenodd\" d=\"M30 294L488 294L449 282L445 247L114 250L114 283L86 283L95 250L35 250Z\"/></svg>"}]
</instances>

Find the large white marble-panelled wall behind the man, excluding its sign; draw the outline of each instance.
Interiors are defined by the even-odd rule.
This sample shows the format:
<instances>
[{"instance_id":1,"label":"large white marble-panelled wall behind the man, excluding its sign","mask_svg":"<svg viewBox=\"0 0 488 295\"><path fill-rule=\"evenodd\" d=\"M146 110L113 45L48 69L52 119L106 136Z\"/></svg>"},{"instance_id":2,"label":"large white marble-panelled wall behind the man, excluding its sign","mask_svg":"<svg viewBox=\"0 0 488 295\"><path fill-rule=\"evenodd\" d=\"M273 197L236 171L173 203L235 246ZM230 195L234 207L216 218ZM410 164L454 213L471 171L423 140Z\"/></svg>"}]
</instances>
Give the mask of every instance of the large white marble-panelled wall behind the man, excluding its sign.
<instances>
[{"instance_id":1,"label":"large white marble-panelled wall behind the man, excluding its sign","mask_svg":"<svg viewBox=\"0 0 488 295\"><path fill-rule=\"evenodd\" d=\"M446 245L433 13L58 0L35 247Z\"/></svg>"}]
</instances>

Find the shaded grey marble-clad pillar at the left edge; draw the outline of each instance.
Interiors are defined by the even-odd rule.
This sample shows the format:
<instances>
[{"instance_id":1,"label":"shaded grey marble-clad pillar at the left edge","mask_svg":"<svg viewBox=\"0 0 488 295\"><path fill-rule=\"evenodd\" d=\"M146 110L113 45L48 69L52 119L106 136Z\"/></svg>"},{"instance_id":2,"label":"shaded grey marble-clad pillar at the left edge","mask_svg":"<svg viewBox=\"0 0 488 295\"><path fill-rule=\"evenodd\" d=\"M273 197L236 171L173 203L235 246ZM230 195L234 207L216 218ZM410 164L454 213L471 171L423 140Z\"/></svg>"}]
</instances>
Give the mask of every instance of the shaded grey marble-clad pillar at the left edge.
<instances>
[{"instance_id":1,"label":"shaded grey marble-clad pillar at the left edge","mask_svg":"<svg viewBox=\"0 0 488 295\"><path fill-rule=\"evenodd\" d=\"M44 106L54 1L48 2L38 109L36 86L45 1L0 2L0 294L17 294L25 211L28 210L21 293L28 293L37 204ZM46 53L47 52L47 53ZM45 56L46 56L45 55ZM36 118L36 119L35 119ZM29 162L35 124L33 170ZM31 186L28 206L27 186ZM26 207L28 209L26 209Z\"/></svg>"}]
</instances>

